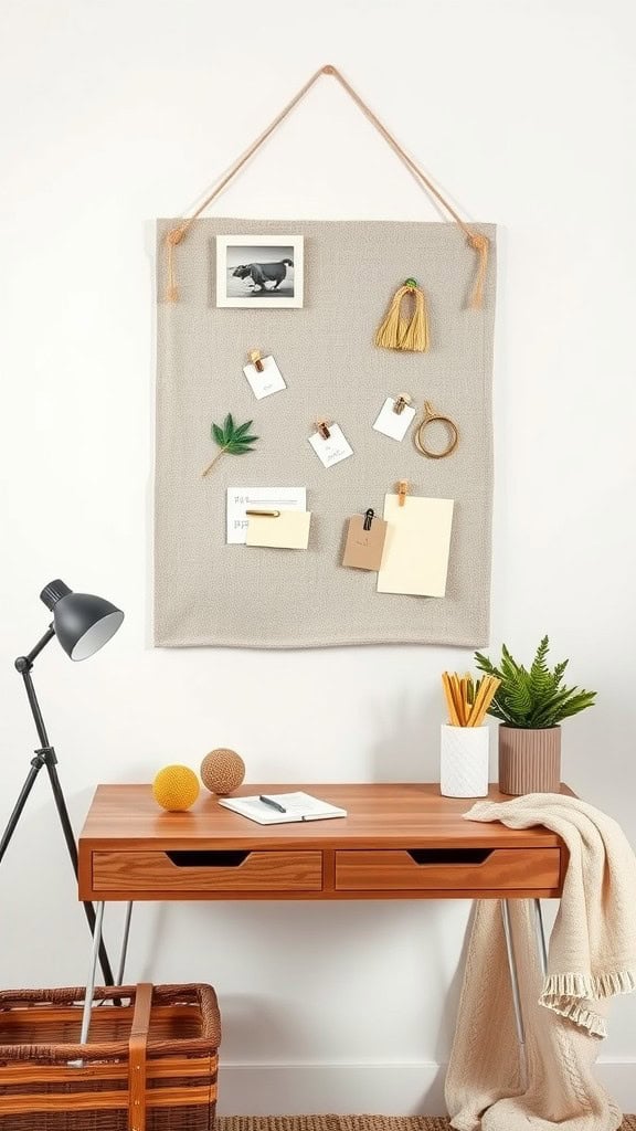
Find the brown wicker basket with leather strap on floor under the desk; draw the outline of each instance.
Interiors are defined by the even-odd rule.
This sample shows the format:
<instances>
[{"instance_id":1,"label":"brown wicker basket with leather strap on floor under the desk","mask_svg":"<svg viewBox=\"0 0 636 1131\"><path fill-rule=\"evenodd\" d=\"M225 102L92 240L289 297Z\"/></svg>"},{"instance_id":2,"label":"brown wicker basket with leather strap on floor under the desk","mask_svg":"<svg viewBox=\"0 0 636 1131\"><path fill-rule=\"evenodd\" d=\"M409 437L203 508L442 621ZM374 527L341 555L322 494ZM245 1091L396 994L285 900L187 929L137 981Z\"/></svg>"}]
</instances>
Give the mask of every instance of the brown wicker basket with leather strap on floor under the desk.
<instances>
[{"instance_id":1,"label":"brown wicker basket with leather strap on floor under the desk","mask_svg":"<svg viewBox=\"0 0 636 1131\"><path fill-rule=\"evenodd\" d=\"M221 1039L212 986L96 988L86 1045L83 995L0 993L0 1131L210 1131Z\"/></svg>"}]
</instances>

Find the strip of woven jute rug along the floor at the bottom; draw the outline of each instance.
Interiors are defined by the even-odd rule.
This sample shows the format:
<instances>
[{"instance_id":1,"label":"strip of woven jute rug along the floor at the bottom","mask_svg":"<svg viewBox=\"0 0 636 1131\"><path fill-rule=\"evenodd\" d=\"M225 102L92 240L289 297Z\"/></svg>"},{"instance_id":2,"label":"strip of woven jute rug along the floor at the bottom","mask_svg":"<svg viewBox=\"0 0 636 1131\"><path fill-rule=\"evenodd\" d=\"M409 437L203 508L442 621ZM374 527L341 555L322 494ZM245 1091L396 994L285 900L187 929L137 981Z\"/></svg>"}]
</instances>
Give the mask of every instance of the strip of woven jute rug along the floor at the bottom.
<instances>
[{"instance_id":1,"label":"strip of woven jute rug along the floor at the bottom","mask_svg":"<svg viewBox=\"0 0 636 1131\"><path fill-rule=\"evenodd\" d=\"M216 1131L449 1131L439 1115L226 1115ZM636 1131L636 1115L626 1115L620 1131Z\"/></svg>"}]
</instances>

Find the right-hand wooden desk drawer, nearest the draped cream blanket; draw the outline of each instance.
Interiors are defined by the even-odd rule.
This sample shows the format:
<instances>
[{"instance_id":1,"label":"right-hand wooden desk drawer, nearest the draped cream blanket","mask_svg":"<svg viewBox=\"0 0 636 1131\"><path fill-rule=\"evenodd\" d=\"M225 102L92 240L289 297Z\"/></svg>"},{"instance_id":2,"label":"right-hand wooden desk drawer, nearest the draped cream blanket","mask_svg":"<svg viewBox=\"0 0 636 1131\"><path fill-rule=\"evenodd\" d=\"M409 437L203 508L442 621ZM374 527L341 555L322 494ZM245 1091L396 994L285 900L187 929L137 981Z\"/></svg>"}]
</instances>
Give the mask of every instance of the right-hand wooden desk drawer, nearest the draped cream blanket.
<instances>
[{"instance_id":1,"label":"right-hand wooden desk drawer, nearest the draped cream blanket","mask_svg":"<svg viewBox=\"0 0 636 1131\"><path fill-rule=\"evenodd\" d=\"M557 890L559 883L559 848L336 852L336 891Z\"/></svg>"}]
</instances>

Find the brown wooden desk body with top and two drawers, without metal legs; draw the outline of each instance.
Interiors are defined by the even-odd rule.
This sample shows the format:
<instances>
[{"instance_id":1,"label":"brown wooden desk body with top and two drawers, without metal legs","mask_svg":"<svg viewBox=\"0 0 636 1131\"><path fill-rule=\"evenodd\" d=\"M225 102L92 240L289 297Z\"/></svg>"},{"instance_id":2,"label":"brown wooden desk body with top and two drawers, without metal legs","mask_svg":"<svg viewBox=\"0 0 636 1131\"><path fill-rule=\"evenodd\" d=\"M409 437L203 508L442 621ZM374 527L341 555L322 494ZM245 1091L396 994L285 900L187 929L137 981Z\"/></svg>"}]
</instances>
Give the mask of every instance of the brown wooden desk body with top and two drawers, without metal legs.
<instances>
[{"instance_id":1,"label":"brown wooden desk body with top and two drawers, without metal legs","mask_svg":"<svg viewBox=\"0 0 636 1131\"><path fill-rule=\"evenodd\" d=\"M256 824L201 794L165 813L148 785L97 788L79 838L83 900L543 899L559 896L565 848L547 829L463 820L470 800L438 785L246 785L304 789L346 818ZM491 800L506 801L491 788Z\"/></svg>"}]
</instances>

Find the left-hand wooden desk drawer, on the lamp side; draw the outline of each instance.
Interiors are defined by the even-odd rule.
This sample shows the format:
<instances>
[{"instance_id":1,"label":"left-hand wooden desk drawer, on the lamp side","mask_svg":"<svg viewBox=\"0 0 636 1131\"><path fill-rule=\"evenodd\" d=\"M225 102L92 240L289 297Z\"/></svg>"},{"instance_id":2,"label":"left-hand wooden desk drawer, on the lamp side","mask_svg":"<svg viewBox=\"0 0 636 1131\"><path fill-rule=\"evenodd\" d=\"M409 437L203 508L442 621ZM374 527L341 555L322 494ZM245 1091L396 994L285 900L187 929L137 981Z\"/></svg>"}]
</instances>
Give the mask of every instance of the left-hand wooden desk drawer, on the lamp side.
<instances>
[{"instance_id":1,"label":"left-hand wooden desk drawer, on the lamp side","mask_svg":"<svg viewBox=\"0 0 636 1131\"><path fill-rule=\"evenodd\" d=\"M95 891L320 891L320 852L94 852Z\"/></svg>"}]
</instances>

